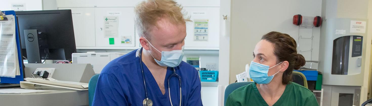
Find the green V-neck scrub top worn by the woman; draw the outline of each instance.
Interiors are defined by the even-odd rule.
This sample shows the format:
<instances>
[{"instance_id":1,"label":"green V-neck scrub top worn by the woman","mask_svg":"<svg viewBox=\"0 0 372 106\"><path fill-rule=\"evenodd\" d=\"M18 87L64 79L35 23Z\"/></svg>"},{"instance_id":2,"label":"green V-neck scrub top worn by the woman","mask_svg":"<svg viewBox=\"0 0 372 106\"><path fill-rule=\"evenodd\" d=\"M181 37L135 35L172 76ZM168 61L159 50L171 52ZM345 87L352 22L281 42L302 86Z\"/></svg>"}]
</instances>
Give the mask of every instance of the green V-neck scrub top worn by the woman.
<instances>
[{"instance_id":1,"label":"green V-neck scrub top worn by the woman","mask_svg":"<svg viewBox=\"0 0 372 106\"><path fill-rule=\"evenodd\" d=\"M234 90L227 97L225 106L269 106L262 98L256 83L250 83ZM309 89L291 82L273 106L319 106Z\"/></svg>"}]
</instances>

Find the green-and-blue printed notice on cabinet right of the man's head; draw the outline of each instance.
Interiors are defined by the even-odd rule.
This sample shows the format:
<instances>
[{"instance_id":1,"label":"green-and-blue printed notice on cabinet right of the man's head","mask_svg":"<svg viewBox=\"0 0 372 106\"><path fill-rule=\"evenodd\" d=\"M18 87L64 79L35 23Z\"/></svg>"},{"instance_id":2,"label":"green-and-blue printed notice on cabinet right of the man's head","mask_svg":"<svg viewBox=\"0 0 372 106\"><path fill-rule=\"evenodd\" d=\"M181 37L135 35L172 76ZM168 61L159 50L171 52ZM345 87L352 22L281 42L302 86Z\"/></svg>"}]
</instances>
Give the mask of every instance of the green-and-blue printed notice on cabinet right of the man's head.
<instances>
[{"instance_id":1,"label":"green-and-blue printed notice on cabinet right of the man's head","mask_svg":"<svg viewBox=\"0 0 372 106\"><path fill-rule=\"evenodd\" d=\"M208 41L208 20L194 20L194 41Z\"/></svg>"}]
</instances>

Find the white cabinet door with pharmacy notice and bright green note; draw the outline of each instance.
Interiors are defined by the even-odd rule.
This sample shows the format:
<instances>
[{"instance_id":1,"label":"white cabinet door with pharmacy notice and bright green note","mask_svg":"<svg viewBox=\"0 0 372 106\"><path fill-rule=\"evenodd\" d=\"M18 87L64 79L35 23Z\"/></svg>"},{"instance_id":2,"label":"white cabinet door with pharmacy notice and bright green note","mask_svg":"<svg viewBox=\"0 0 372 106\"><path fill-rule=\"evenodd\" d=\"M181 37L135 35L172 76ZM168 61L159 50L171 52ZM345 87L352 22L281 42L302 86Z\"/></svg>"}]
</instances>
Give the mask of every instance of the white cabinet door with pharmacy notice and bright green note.
<instances>
[{"instance_id":1,"label":"white cabinet door with pharmacy notice and bright green note","mask_svg":"<svg viewBox=\"0 0 372 106\"><path fill-rule=\"evenodd\" d=\"M134 47L134 7L96 7L96 47Z\"/></svg>"}]
</instances>

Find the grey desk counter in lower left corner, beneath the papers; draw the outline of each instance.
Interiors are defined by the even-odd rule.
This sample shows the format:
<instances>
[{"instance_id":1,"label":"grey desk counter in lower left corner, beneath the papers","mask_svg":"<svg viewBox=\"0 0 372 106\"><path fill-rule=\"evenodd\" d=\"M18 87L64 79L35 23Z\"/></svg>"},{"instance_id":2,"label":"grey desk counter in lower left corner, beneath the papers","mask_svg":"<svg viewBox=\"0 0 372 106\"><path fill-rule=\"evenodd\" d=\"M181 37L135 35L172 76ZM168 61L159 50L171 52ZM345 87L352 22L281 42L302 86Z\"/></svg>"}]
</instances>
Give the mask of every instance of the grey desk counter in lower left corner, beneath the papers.
<instances>
[{"instance_id":1,"label":"grey desk counter in lower left corner, beneath the papers","mask_svg":"<svg viewBox=\"0 0 372 106\"><path fill-rule=\"evenodd\" d=\"M57 90L38 93L0 93L2 106L84 106L89 105L88 91L35 85L38 90Z\"/></svg>"}]
</instances>

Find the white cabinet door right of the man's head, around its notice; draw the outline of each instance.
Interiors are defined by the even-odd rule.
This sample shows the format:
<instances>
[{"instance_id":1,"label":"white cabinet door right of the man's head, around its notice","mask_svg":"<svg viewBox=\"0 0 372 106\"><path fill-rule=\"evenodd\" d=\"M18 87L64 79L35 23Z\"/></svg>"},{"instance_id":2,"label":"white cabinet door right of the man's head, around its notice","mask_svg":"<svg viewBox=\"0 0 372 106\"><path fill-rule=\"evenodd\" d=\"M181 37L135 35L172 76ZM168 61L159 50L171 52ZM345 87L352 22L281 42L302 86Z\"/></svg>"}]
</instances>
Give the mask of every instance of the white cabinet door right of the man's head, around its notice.
<instances>
[{"instance_id":1,"label":"white cabinet door right of the man's head, around its notice","mask_svg":"<svg viewBox=\"0 0 372 106\"><path fill-rule=\"evenodd\" d=\"M219 7L183 7L192 22L186 22L185 47L219 47ZM205 38L195 39L197 22L208 22ZM202 29L204 31L205 29ZM199 31L198 31L199 32Z\"/></svg>"}]
</instances>

